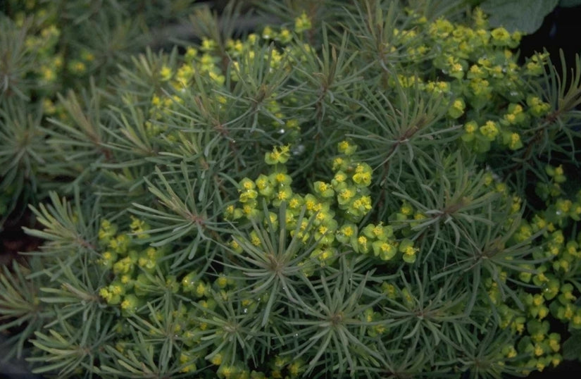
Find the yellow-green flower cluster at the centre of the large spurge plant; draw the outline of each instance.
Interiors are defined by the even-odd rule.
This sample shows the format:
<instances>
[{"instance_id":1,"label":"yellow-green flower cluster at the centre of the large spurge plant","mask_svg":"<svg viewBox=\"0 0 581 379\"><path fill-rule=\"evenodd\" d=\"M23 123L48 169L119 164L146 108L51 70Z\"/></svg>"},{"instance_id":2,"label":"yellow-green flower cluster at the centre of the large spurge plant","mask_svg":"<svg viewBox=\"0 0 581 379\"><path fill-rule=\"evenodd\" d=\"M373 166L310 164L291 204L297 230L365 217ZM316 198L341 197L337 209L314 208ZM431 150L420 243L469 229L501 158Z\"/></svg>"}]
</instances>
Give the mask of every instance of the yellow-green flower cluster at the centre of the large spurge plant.
<instances>
[{"instance_id":1,"label":"yellow-green flower cluster at the centre of the large spurge plant","mask_svg":"<svg viewBox=\"0 0 581 379\"><path fill-rule=\"evenodd\" d=\"M316 259L321 265L331 264L337 258L338 249L345 248L359 254L372 253L383 261L393 259L400 252L404 261L413 263L417 249L410 240L396 240L391 226L370 223L359 230L356 224L373 206L368 189L372 183L372 169L367 163L354 159L355 144L342 141L337 145L337 150L340 155L332 161L335 173L332 180L313 182L313 193L301 195L293 192L292 178L285 173L285 166L277 164L286 163L288 158L281 161L281 154L288 151L288 147L275 147L265 155L266 163L274 165L273 172L261 174L256 180L242 179L239 182L240 207L229 206L225 216L230 220L261 220L266 217L258 209L262 201L278 208L284 201L285 225L289 235L299 237L305 244L313 238L316 246L311 259ZM297 225L303 209L306 218L302 218L301 224ZM268 220L264 219L263 222L270 228L277 228L277 217L277 212L271 211ZM248 241L256 247L261 246L254 230L249 232ZM232 240L230 247L239 254L243 253L236 240Z\"/></svg>"}]
</instances>

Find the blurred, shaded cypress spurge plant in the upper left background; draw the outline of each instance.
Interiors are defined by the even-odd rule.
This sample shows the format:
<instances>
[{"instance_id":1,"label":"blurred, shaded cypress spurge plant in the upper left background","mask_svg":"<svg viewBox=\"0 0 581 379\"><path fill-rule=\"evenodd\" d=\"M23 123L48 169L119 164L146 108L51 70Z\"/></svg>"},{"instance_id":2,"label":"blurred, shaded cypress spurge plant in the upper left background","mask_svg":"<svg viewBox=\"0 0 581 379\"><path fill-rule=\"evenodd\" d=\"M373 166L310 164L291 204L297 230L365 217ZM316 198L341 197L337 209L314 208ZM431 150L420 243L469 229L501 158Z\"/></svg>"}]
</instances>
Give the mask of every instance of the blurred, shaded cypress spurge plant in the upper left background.
<instances>
[{"instance_id":1,"label":"blurred, shaded cypress spurge plant in the upper left background","mask_svg":"<svg viewBox=\"0 0 581 379\"><path fill-rule=\"evenodd\" d=\"M47 199L50 190L71 194L68 184L106 154L98 128L105 122L102 94L94 83L105 85L119 64L159 43L166 23L195 7L193 1L0 4L0 231L6 220L17 225L27 204ZM85 106L93 108L91 115L83 114ZM77 139L79 147L70 155L46 144L54 132L48 118L61 120L65 113L76 125L66 138Z\"/></svg>"}]
</instances>

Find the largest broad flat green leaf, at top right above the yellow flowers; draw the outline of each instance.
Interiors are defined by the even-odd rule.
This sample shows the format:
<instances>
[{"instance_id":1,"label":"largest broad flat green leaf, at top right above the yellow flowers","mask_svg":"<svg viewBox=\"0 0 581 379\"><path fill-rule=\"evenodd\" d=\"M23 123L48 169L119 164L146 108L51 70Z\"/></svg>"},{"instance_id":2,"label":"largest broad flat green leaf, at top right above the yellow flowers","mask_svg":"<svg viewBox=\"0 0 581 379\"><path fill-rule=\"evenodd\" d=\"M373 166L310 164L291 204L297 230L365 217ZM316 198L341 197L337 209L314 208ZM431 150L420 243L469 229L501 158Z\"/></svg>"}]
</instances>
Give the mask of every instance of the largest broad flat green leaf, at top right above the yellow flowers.
<instances>
[{"instance_id":1,"label":"largest broad flat green leaf, at top right above the yellow flowers","mask_svg":"<svg viewBox=\"0 0 581 379\"><path fill-rule=\"evenodd\" d=\"M493 27L503 26L509 32L516 30L531 34L541 27L544 17L551 13L559 0L486 0L480 4L490 15Z\"/></svg>"}]
</instances>

